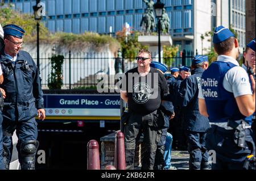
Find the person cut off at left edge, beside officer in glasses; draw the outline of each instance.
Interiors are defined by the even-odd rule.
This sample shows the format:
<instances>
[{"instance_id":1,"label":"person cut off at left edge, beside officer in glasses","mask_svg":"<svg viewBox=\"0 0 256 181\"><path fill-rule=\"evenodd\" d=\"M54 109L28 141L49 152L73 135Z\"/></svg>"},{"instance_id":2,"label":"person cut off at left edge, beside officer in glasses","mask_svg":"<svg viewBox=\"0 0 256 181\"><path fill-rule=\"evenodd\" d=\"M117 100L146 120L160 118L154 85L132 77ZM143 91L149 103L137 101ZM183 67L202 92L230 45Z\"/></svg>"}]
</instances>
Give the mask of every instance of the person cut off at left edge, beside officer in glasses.
<instances>
[{"instance_id":1,"label":"person cut off at left edge, beside officer in glasses","mask_svg":"<svg viewBox=\"0 0 256 181\"><path fill-rule=\"evenodd\" d=\"M3 47L3 28L0 24L0 50ZM0 62L1 66L1 62ZM3 72L2 69L0 69L0 84L3 83ZM0 91L0 170L5 169L5 166L3 165L3 131L2 131L2 122L3 122L3 116L2 116L2 107L3 107L3 95Z\"/></svg>"}]
</instances>

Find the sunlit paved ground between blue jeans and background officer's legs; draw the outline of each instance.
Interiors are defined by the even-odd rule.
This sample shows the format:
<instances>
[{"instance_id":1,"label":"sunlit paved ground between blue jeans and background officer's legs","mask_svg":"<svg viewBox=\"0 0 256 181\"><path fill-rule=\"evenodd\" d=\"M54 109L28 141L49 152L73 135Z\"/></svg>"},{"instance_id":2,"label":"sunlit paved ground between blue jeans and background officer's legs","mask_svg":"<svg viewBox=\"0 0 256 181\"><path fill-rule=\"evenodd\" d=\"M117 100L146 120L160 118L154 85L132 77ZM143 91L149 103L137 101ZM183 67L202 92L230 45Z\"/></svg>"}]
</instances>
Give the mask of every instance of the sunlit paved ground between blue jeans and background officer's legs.
<instances>
[{"instance_id":1,"label":"sunlit paved ground between blue jeans and background officer's legs","mask_svg":"<svg viewBox=\"0 0 256 181\"><path fill-rule=\"evenodd\" d=\"M188 151L172 150L171 163L177 170L188 170L189 153Z\"/></svg>"}]
</instances>

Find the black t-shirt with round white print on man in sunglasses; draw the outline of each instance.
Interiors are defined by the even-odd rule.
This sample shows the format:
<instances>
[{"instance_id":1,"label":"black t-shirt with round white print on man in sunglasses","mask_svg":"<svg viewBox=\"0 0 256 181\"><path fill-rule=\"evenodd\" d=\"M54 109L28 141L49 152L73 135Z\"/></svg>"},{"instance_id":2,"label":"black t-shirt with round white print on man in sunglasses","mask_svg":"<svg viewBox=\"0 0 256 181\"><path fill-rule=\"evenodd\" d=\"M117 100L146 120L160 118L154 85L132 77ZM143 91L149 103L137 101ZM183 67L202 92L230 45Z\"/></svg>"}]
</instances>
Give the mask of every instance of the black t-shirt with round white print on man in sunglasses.
<instances>
[{"instance_id":1,"label":"black t-shirt with round white print on man in sunglasses","mask_svg":"<svg viewBox=\"0 0 256 181\"><path fill-rule=\"evenodd\" d=\"M127 91L130 112L146 115L160 107L163 95L168 94L166 78L162 73L150 68L149 73L142 77L138 68L134 68L127 71L125 76L122 90Z\"/></svg>"}]
</instances>

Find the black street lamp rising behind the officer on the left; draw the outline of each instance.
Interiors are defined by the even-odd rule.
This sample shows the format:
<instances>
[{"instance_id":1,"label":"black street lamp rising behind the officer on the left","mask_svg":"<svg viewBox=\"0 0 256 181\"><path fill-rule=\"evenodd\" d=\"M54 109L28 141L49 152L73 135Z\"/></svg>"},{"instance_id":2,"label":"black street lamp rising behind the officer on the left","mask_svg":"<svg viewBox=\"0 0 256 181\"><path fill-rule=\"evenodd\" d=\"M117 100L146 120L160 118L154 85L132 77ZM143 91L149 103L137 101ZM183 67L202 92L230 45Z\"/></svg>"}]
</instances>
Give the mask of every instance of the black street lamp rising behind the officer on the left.
<instances>
[{"instance_id":1,"label":"black street lamp rising behind the officer on the left","mask_svg":"<svg viewBox=\"0 0 256 181\"><path fill-rule=\"evenodd\" d=\"M41 12L39 11L41 6L39 6L39 3L40 3L40 0L36 0L36 5L33 6L33 10L34 10L34 18L36 20L36 33L37 33L37 37L36 37L36 54L37 54L37 59L36 59L36 65L38 66L38 71L39 71L39 74L40 74L40 68L39 68L39 22L40 20L42 19L42 14Z\"/></svg>"}]
</instances>

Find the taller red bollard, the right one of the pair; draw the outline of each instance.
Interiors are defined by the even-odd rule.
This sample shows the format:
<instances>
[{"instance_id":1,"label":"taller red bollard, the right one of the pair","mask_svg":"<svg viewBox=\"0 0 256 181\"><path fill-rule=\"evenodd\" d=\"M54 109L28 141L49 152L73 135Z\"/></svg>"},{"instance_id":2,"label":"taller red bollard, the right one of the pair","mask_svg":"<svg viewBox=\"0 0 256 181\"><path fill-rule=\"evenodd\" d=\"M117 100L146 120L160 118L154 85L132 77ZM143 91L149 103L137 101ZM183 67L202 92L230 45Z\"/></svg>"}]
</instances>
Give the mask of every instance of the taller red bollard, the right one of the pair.
<instances>
[{"instance_id":1,"label":"taller red bollard, the right one of the pair","mask_svg":"<svg viewBox=\"0 0 256 181\"><path fill-rule=\"evenodd\" d=\"M115 168L117 170L126 170L125 136L121 131L115 134Z\"/></svg>"}]
</instances>

